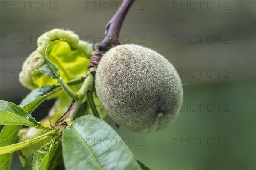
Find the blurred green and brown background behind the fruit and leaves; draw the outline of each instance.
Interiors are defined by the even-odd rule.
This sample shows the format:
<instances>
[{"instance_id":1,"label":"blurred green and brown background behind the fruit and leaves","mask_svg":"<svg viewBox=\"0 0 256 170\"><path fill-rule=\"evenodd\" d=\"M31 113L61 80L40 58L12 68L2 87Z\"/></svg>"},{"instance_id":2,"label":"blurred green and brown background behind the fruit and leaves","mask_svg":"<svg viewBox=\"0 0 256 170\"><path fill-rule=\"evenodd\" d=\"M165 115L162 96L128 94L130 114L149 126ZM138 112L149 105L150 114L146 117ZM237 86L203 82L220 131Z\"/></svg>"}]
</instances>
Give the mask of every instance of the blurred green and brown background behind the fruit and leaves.
<instances>
[{"instance_id":1,"label":"blurred green and brown background behind the fruit and leaves","mask_svg":"<svg viewBox=\"0 0 256 170\"><path fill-rule=\"evenodd\" d=\"M29 93L20 85L18 72L35 50L36 37L65 28L76 31L82 40L100 42L105 24L121 4L39 0L29 6L23 2L26 6L16 0L0 1L0 99L16 104ZM145 135L117 130L138 160L156 170L256 168L255 32L254 0L134 3L121 42L166 56L180 73L184 89L182 111L168 129ZM44 102L44 108L33 114L36 119L46 116L52 103ZM109 123L114 127L113 121ZM15 154L12 169L20 166Z\"/></svg>"}]
</instances>

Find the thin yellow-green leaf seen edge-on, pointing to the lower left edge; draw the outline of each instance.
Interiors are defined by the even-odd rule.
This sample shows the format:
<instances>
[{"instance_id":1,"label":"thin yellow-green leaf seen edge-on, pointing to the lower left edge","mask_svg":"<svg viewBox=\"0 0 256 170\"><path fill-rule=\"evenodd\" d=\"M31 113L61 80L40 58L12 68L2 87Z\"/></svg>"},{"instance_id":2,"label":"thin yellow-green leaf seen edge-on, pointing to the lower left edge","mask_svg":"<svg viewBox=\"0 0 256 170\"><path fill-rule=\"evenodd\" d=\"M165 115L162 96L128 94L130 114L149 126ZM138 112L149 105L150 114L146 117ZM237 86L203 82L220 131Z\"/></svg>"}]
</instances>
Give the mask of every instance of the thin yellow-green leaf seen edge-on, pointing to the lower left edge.
<instances>
[{"instance_id":1,"label":"thin yellow-green leaf seen edge-on, pointing to the lower left edge","mask_svg":"<svg viewBox=\"0 0 256 170\"><path fill-rule=\"evenodd\" d=\"M25 140L24 142L15 143L7 146L0 147L0 155L6 154L6 153L13 153L16 150L20 150L24 147L27 147L33 143L40 143L39 141L42 141L44 139L47 139L49 136L52 135L53 132L45 133L44 135L38 136L36 138L33 138L31 140Z\"/></svg>"}]
</instances>

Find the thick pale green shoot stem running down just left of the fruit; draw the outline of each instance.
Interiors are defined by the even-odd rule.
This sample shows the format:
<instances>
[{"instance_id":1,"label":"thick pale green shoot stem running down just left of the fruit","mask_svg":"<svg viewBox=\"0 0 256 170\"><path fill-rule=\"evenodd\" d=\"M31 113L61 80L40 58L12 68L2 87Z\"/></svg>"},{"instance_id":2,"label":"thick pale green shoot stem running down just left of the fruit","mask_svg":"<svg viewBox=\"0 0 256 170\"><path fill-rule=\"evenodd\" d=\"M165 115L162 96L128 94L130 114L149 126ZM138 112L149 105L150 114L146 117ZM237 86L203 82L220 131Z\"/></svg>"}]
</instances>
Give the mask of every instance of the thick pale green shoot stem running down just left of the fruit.
<instances>
[{"instance_id":1,"label":"thick pale green shoot stem running down just left of the fruit","mask_svg":"<svg viewBox=\"0 0 256 170\"><path fill-rule=\"evenodd\" d=\"M82 101L89 91L89 88L93 85L94 77L93 74L88 74L85 78L80 90L77 92L78 98L76 99L75 103L73 104L72 108L70 109L70 112L67 115L67 123L70 124L73 122L73 118L76 116L77 111L79 110Z\"/></svg>"}]
</instances>

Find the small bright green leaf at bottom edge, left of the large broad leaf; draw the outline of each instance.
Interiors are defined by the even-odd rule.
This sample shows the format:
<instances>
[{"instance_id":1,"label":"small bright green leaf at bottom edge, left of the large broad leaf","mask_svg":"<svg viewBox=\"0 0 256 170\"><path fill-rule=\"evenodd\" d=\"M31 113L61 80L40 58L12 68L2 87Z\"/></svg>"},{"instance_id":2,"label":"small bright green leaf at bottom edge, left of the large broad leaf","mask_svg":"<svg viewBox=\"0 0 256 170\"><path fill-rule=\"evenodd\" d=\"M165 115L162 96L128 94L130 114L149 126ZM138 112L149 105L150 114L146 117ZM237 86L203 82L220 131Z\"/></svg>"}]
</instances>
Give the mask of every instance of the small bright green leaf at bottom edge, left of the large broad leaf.
<instances>
[{"instance_id":1,"label":"small bright green leaf at bottom edge, left of the large broad leaf","mask_svg":"<svg viewBox=\"0 0 256 170\"><path fill-rule=\"evenodd\" d=\"M57 146L48 144L38 149L33 156L33 170L47 170Z\"/></svg>"}]
</instances>

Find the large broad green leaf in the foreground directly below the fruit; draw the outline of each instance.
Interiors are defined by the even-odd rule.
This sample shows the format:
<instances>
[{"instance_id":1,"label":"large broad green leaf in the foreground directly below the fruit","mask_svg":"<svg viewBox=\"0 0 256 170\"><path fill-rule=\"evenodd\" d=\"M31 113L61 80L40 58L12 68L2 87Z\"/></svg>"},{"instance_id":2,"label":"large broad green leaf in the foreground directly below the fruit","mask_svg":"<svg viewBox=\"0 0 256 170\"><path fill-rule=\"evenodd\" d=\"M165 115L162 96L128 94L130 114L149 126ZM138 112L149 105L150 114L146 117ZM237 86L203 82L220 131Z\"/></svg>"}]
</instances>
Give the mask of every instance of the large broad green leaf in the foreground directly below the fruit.
<instances>
[{"instance_id":1,"label":"large broad green leaf in the foreground directly below the fruit","mask_svg":"<svg viewBox=\"0 0 256 170\"><path fill-rule=\"evenodd\" d=\"M141 170L116 131L95 116L82 116L64 129L62 150L68 170Z\"/></svg>"}]
</instances>

